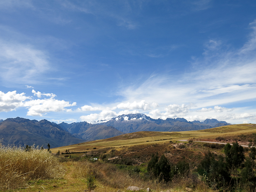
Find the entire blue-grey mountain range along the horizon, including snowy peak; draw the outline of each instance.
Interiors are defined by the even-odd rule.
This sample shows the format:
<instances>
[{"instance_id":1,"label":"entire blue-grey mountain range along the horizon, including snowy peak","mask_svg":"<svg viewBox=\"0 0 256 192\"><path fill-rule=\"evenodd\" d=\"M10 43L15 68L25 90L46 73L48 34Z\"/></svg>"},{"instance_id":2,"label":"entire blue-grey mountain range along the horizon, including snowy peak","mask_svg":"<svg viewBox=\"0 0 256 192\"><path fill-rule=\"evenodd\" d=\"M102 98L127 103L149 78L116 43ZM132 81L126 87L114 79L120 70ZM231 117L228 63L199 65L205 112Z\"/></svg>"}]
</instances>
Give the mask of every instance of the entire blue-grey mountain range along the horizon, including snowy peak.
<instances>
[{"instance_id":1,"label":"entire blue-grey mountain range along the horizon, including snowy peak","mask_svg":"<svg viewBox=\"0 0 256 192\"><path fill-rule=\"evenodd\" d=\"M84 141L107 139L138 131L191 131L231 125L216 119L189 122L184 118L152 119L144 114L121 115L99 122L56 124L47 120L9 118L0 120L0 139L3 145L44 145L51 147L73 145Z\"/></svg>"}]
</instances>

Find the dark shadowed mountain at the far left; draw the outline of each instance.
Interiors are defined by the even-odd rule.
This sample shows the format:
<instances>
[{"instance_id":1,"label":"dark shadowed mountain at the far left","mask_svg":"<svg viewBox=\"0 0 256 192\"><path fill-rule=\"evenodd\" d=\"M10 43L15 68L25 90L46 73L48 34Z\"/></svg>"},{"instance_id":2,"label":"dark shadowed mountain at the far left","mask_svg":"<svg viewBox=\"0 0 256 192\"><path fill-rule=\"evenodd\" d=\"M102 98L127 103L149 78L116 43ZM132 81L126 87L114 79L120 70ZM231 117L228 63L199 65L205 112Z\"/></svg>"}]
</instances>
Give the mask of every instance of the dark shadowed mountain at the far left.
<instances>
[{"instance_id":1,"label":"dark shadowed mountain at the far left","mask_svg":"<svg viewBox=\"0 0 256 192\"><path fill-rule=\"evenodd\" d=\"M84 140L72 136L57 124L47 120L29 120L20 117L0 122L0 138L3 145L44 145L51 148L82 143Z\"/></svg>"}]
</instances>

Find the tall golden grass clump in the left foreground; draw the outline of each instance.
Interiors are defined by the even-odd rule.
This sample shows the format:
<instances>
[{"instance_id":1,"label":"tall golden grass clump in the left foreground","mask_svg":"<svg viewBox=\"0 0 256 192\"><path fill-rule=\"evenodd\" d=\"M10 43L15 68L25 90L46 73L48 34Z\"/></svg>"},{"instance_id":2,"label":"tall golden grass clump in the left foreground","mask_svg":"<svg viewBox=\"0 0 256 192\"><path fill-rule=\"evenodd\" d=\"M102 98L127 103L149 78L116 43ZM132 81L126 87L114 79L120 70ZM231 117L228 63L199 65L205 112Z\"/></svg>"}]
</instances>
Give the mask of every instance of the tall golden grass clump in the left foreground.
<instances>
[{"instance_id":1,"label":"tall golden grass clump in the left foreground","mask_svg":"<svg viewBox=\"0 0 256 192\"><path fill-rule=\"evenodd\" d=\"M32 179L54 179L64 176L58 159L46 150L32 146L4 146L0 141L0 189L23 187Z\"/></svg>"}]
</instances>

